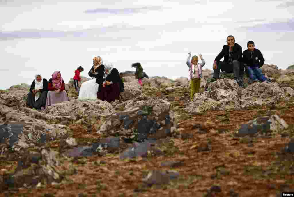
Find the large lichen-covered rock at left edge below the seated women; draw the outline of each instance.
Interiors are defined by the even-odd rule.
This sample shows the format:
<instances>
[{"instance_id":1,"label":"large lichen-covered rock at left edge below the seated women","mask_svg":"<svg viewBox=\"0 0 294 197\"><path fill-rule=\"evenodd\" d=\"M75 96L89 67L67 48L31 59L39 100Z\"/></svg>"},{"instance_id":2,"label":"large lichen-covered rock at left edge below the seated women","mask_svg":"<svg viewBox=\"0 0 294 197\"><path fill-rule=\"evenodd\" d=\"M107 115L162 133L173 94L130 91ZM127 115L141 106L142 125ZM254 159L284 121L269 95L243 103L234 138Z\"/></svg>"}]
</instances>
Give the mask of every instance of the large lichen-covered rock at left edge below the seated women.
<instances>
[{"instance_id":1,"label":"large lichen-covered rock at left edge below the seated women","mask_svg":"<svg viewBox=\"0 0 294 197\"><path fill-rule=\"evenodd\" d=\"M17 112L3 105L0 105L0 115L5 120L0 125L0 142L4 145L1 146L2 153L8 148L13 150L28 148L67 133L67 127L64 125L48 124L45 120L29 117L24 112Z\"/></svg>"}]
</instances>

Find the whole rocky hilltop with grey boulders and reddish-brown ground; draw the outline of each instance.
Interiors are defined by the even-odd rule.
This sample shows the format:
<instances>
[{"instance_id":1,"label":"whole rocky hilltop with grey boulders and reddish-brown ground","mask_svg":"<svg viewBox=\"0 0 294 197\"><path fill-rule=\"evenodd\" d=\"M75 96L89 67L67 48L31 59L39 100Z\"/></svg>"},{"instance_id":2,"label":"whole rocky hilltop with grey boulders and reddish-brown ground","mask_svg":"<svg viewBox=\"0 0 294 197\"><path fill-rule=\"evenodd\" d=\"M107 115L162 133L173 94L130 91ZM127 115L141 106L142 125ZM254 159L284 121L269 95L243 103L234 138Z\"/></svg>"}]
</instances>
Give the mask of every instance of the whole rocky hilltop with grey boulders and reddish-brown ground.
<instances>
[{"instance_id":1,"label":"whole rocky hilltop with grey boulders and reddish-brown ground","mask_svg":"<svg viewBox=\"0 0 294 197\"><path fill-rule=\"evenodd\" d=\"M203 70L192 102L187 77L140 87L133 72L111 103L77 100L72 79L70 100L44 112L26 108L29 85L0 90L0 196L294 191L294 72L262 70L277 81L245 89L225 75L211 83Z\"/></svg>"}]
</instances>

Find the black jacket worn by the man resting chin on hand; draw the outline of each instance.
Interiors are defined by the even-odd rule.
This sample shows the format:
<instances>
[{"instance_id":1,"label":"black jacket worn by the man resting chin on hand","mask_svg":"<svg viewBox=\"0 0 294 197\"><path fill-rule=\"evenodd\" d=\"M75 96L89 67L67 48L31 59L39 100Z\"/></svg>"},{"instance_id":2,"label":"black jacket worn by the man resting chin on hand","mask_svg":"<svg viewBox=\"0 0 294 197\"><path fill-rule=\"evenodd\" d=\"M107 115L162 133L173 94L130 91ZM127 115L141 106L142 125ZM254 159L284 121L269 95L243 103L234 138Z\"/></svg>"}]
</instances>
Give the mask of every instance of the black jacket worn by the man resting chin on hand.
<instances>
[{"instance_id":1,"label":"black jacket worn by the man resting chin on hand","mask_svg":"<svg viewBox=\"0 0 294 197\"><path fill-rule=\"evenodd\" d=\"M216 59L214 61L216 61L216 64L218 64L218 62L220 61L220 59L222 59L224 57L224 62L229 62L229 45L223 45L223 49L221 50L221 52L218 54L218 56L216 56ZM234 47L233 47L233 60L238 60L239 62L242 61L242 47L235 43Z\"/></svg>"}]
</instances>

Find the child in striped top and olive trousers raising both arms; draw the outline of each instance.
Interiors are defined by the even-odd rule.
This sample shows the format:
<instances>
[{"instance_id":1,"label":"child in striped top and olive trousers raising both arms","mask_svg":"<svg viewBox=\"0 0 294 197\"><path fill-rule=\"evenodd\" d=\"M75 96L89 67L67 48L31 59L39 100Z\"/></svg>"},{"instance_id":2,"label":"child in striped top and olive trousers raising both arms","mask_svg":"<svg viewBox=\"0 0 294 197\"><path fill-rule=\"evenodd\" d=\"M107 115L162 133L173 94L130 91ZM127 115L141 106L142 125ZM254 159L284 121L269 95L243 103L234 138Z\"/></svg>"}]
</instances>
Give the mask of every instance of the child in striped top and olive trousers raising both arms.
<instances>
[{"instance_id":1,"label":"child in striped top and olive trousers raising both arms","mask_svg":"<svg viewBox=\"0 0 294 197\"><path fill-rule=\"evenodd\" d=\"M200 81L202 78L202 67L205 65L205 60L202 58L202 55L199 53L201 59L201 64L198 64L198 56L194 55L191 58L191 52L188 53L188 58L186 61L187 66L189 67L189 77L190 77L190 99L193 101L194 94L200 90Z\"/></svg>"}]
</instances>

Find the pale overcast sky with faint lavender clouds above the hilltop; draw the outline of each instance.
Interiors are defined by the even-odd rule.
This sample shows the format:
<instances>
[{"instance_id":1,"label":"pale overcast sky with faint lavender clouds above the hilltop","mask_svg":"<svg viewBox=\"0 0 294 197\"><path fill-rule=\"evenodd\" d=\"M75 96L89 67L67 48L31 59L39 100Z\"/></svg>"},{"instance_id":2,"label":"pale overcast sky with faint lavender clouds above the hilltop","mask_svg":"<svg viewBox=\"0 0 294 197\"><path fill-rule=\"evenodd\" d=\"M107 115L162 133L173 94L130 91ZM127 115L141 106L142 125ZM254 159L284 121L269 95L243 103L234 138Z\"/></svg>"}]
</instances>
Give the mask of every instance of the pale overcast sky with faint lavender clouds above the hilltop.
<instances>
[{"instance_id":1,"label":"pale overcast sky with faint lavender clouds above the hilltop","mask_svg":"<svg viewBox=\"0 0 294 197\"><path fill-rule=\"evenodd\" d=\"M149 76L188 77L188 52L212 69L228 35L242 50L253 40L266 64L294 64L293 0L1 0L0 13L0 89L55 70L67 83L79 65L88 76L95 56L119 72L140 62Z\"/></svg>"}]
</instances>

